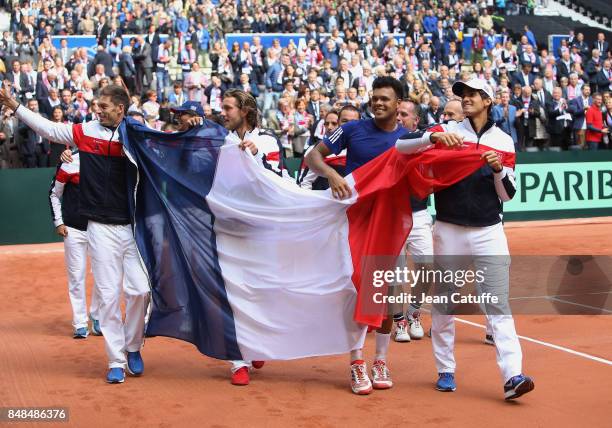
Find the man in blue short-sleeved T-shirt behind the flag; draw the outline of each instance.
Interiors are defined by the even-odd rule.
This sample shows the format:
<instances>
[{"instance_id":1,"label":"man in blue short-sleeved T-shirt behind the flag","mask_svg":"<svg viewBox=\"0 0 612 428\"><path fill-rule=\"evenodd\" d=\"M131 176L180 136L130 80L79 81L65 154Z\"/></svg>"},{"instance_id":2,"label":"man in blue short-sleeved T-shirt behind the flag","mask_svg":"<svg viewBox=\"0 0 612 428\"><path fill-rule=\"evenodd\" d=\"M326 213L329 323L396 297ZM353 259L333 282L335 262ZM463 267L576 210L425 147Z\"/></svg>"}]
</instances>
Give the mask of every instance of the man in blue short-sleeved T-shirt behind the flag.
<instances>
[{"instance_id":1,"label":"man in blue short-sleeved T-shirt behind the flag","mask_svg":"<svg viewBox=\"0 0 612 428\"><path fill-rule=\"evenodd\" d=\"M308 167L327 178L335 198L351 197L351 188L335 169L325 163L325 157L331 153L337 155L346 149L346 173L350 174L393 147L397 139L406 132L406 129L397 123L397 109L401 97L402 85L399 80L389 76L377 78L372 84L370 99L374 119L355 120L340 126L306 155ZM355 394L369 394L372 387L388 389L393 386L386 365L392 325L393 318L388 317L376 331L372 381L367 374L363 351L351 351L351 389Z\"/></svg>"}]
</instances>

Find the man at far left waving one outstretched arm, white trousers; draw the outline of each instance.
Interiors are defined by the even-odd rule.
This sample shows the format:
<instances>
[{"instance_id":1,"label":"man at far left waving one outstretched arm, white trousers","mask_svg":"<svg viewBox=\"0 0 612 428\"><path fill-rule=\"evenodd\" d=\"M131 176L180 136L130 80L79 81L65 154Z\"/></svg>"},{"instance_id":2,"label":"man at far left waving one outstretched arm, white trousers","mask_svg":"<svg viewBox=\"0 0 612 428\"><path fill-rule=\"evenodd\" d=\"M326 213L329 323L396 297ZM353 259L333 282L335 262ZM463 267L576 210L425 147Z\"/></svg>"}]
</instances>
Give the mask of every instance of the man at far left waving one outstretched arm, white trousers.
<instances>
[{"instance_id":1,"label":"man at far left waving one outstretched arm, white trousers","mask_svg":"<svg viewBox=\"0 0 612 428\"><path fill-rule=\"evenodd\" d=\"M136 248L129 210L135 189L128 186L128 176L137 174L136 164L123 150L118 131L130 104L127 92L117 85L104 87L98 102L100 119L75 125L41 117L5 89L0 90L0 104L41 137L79 148L79 214L87 221L91 268L100 297L99 321L109 360L106 381L123 383L125 368L140 376L149 279Z\"/></svg>"}]
</instances>

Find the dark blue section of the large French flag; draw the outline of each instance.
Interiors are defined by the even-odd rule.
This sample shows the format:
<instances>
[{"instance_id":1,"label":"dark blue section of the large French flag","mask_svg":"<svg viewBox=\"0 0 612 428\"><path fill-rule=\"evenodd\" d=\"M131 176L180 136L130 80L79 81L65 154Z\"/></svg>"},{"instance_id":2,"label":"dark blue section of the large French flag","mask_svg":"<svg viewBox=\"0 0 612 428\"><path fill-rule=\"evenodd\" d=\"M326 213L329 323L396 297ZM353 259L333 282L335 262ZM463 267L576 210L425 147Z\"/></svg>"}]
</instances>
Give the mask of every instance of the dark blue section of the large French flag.
<instances>
[{"instance_id":1,"label":"dark blue section of the large French flag","mask_svg":"<svg viewBox=\"0 0 612 428\"><path fill-rule=\"evenodd\" d=\"M227 131L204 122L171 134L133 119L119 128L138 164L134 227L153 297L147 335L185 340L208 356L237 360L242 355L217 257L215 218L205 199Z\"/></svg>"}]
</instances>

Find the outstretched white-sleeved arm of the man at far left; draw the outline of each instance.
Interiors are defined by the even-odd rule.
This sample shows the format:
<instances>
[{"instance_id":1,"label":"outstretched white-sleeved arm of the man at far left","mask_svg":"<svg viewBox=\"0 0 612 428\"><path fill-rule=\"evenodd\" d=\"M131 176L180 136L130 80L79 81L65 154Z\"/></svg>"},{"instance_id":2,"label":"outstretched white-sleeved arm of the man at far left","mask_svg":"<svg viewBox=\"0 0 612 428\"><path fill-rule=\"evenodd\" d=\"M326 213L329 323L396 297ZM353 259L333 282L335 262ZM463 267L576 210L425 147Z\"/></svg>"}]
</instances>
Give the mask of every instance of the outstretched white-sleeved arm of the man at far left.
<instances>
[{"instance_id":1,"label":"outstretched white-sleeved arm of the man at far left","mask_svg":"<svg viewBox=\"0 0 612 428\"><path fill-rule=\"evenodd\" d=\"M42 138L61 144L74 146L72 125L55 123L39 114L28 110L13 99L6 89L0 89L0 104L7 106L15 112L15 117L34 130Z\"/></svg>"}]
</instances>

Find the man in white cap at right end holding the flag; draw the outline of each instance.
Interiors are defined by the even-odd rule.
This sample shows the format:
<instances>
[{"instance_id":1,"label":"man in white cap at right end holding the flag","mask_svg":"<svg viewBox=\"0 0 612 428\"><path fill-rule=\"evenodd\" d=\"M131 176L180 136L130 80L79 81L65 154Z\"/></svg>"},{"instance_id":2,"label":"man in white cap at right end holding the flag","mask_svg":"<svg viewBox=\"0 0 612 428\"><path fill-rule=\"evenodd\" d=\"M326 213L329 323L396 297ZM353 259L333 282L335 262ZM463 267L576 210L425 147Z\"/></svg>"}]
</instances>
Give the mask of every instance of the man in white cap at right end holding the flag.
<instances>
[{"instance_id":1,"label":"man in white cap at right end holding the flag","mask_svg":"<svg viewBox=\"0 0 612 428\"><path fill-rule=\"evenodd\" d=\"M533 380L522 374L521 345L508 304L510 260L502 224L502 202L509 201L516 193L514 142L491 118L495 94L484 80L456 82L453 93L462 99L465 115L462 122L409 133L398 139L396 147L401 153L412 154L427 151L439 143L456 148L485 146L481 156L487 165L435 193L434 254L437 266L455 269L464 263L458 256L469 256L477 269L486 272L484 282L477 284L477 292L500 297L499 305L485 305L485 315L497 348L497 363L505 382L504 395L509 400L534 388ZM454 283L444 285L448 289L441 290L442 285L436 284L438 293L456 290ZM434 305L431 333L438 369L436 388L455 391L455 325L448 308Z\"/></svg>"}]
</instances>

